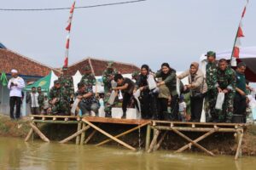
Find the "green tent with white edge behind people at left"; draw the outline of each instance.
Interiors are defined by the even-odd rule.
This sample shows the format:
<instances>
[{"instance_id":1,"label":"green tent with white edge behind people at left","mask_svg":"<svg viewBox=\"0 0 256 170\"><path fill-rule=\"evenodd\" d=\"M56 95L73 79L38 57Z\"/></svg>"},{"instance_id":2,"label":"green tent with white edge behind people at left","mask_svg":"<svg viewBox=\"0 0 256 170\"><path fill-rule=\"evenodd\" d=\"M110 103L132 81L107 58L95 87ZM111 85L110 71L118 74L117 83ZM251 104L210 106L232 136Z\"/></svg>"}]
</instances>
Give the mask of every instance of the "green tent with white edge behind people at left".
<instances>
[{"instance_id":1,"label":"green tent with white edge behind people at left","mask_svg":"<svg viewBox=\"0 0 256 170\"><path fill-rule=\"evenodd\" d=\"M53 71L49 72L49 75L46 77L40 78L37 82L33 82L30 85L26 86L26 91L31 91L32 87L41 87L42 91L49 92L49 89L53 87L54 81L57 80L58 77L55 75Z\"/></svg>"}]
</instances>

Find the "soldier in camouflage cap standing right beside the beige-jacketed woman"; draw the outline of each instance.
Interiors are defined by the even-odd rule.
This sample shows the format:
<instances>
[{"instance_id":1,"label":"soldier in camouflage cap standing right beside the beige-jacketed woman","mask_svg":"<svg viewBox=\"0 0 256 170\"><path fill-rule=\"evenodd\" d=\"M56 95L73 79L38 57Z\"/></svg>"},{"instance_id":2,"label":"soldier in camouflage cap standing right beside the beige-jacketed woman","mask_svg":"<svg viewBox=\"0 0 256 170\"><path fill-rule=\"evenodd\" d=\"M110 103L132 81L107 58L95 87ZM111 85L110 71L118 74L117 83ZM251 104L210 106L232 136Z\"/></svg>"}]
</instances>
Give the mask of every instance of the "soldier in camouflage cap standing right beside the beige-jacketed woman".
<instances>
[{"instance_id":1,"label":"soldier in camouflage cap standing right beside the beige-jacketed woman","mask_svg":"<svg viewBox=\"0 0 256 170\"><path fill-rule=\"evenodd\" d=\"M218 95L217 88L215 85L217 84L217 69L218 63L216 62L216 54L213 51L208 51L207 54L207 100L208 100L208 108L210 110L210 114L212 116L212 122L216 122L218 120L218 115L215 111L216 99Z\"/></svg>"}]
</instances>

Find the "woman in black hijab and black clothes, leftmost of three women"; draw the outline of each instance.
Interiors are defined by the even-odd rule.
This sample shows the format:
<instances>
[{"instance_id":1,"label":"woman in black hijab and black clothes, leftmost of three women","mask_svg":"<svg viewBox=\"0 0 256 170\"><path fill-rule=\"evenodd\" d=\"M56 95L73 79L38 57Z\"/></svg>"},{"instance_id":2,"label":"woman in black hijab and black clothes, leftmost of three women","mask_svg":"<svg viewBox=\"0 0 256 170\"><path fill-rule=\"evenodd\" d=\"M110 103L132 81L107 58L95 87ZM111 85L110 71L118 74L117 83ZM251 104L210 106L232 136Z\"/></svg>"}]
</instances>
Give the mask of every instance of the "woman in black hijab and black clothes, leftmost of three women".
<instances>
[{"instance_id":1,"label":"woman in black hijab and black clothes, leftmost of three women","mask_svg":"<svg viewBox=\"0 0 256 170\"><path fill-rule=\"evenodd\" d=\"M141 96L141 112L143 119L150 119L153 115L157 114L157 106L156 106L156 94L152 90L148 88L148 75L149 75L149 67L148 65L142 65L141 73L137 77L135 92L137 89L140 89Z\"/></svg>"}]
</instances>

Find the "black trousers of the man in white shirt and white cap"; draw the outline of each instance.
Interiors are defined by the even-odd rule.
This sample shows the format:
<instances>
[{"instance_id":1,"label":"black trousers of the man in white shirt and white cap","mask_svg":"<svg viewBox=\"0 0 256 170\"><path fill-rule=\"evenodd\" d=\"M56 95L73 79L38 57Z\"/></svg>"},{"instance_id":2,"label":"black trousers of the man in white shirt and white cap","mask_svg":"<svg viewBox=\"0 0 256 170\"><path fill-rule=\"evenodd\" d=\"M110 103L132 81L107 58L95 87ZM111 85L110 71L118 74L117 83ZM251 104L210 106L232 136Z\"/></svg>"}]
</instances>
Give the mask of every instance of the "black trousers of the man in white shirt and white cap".
<instances>
[{"instance_id":1,"label":"black trousers of the man in white shirt and white cap","mask_svg":"<svg viewBox=\"0 0 256 170\"><path fill-rule=\"evenodd\" d=\"M16 116L14 115L16 105ZM20 119L20 105L21 98L20 97L10 97L9 98L9 116L11 119Z\"/></svg>"}]
</instances>

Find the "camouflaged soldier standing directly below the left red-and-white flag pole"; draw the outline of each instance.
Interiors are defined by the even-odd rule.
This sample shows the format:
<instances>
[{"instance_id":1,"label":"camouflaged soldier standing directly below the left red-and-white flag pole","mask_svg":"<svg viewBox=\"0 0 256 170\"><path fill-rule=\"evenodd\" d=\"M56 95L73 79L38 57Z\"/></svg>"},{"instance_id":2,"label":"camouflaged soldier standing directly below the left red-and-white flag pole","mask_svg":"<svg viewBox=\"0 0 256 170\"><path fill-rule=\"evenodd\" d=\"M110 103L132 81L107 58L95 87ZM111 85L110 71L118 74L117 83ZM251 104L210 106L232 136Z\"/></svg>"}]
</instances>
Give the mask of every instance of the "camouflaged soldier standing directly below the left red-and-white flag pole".
<instances>
[{"instance_id":1,"label":"camouflaged soldier standing directly below the left red-and-white flag pole","mask_svg":"<svg viewBox=\"0 0 256 170\"><path fill-rule=\"evenodd\" d=\"M69 98L73 97L74 94L74 88L73 88L73 78L68 76L67 74L67 67L62 68L63 74L61 74L61 77L58 78L59 82L61 83L61 87L66 88L68 92ZM70 99L68 99L70 100Z\"/></svg>"}]
</instances>

